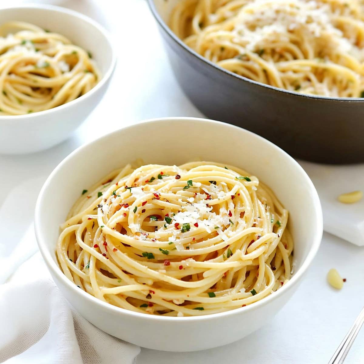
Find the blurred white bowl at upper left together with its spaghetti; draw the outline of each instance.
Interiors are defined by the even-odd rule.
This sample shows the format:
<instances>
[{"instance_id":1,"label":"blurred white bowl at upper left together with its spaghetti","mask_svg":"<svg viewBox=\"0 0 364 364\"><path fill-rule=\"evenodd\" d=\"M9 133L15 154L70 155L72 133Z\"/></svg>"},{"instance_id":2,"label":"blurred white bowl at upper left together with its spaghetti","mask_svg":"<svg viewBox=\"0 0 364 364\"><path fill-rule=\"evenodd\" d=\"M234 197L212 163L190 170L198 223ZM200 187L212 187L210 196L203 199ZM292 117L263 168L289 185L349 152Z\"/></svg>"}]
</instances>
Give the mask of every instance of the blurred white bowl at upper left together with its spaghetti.
<instances>
[{"instance_id":1,"label":"blurred white bowl at upper left together with its spaghetti","mask_svg":"<svg viewBox=\"0 0 364 364\"><path fill-rule=\"evenodd\" d=\"M0 153L47 149L68 138L104 95L115 68L94 20L51 5L0 13Z\"/></svg>"}]
</instances>

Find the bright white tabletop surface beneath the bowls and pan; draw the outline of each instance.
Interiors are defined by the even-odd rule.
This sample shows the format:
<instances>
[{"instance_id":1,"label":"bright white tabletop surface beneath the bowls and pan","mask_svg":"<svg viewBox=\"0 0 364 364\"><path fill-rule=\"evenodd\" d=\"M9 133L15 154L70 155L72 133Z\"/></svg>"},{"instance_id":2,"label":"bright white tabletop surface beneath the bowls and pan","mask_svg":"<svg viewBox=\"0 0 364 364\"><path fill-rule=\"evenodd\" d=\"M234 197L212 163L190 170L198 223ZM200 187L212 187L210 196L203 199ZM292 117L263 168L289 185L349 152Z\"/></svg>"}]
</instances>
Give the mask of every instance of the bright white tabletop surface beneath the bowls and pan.
<instances>
[{"instance_id":1,"label":"bright white tabletop surface beneath the bowls and pan","mask_svg":"<svg viewBox=\"0 0 364 364\"><path fill-rule=\"evenodd\" d=\"M27 2L30 1L12 0L12 4ZM106 96L72 138L40 153L0 156L0 206L3 202L9 206L8 196L15 191L24 201L21 210L15 206L3 214L3 242L21 238L23 229L32 221L41 184L76 147L142 119L203 116L178 86L145 0L37 2L73 8L103 24L114 37L118 64ZM7 4L8 1L0 1L0 5ZM10 232L7 223L13 221L14 214L21 218L18 229ZM237 343L209 351L168 353L142 349L137 364L327 363L364 305L363 261L363 248L325 233L298 292L264 328ZM333 267L347 278L341 291L326 282L326 274ZM345 363L363 363L363 343L364 330Z\"/></svg>"}]
</instances>

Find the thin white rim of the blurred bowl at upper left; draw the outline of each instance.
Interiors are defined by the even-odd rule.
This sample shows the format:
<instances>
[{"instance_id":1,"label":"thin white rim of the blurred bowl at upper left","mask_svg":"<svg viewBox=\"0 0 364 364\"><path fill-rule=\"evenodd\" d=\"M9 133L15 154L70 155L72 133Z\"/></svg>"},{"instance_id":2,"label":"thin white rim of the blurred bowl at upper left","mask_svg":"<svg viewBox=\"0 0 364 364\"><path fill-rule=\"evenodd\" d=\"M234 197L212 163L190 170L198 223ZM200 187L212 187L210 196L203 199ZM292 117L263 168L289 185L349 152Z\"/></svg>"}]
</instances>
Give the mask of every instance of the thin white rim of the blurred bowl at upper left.
<instances>
[{"instance_id":1,"label":"thin white rim of the blurred bowl at upper left","mask_svg":"<svg viewBox=\"0 0 364 364\"><path fill-rule=\"evenodd\" d=\"M0 115L0 123L8 122L9 119L11 120L11 122L14 122L14 121L21 121L22 123L31 122L35 118L37 118L37 116L43 116L43 115L50 114L52 112L62 111L64 108L73 106L74 104L76 104L80 101L83 101L87 97L95 94L96 92L98 92L98 90L100 88L102 88L104 86L105 83L107 83L108 79L110 79L112 73L114 72L115 65L116 65L116 54L114 51L114 46L113 46L113 41L112 41L113 37L111 36L111 33L109 31L107 31L96 20L94 20L94 19L90 18L89 16L84 15L78 11L56 6L56 5L50 5L50 4L23 4L23 5L0 7L0 10L8 10L8 9L37 9L39 11L50 11L50 12L56 12L56 13L58 12L58 13L64 13L67 16L72 16L72 17L86 21L87 23L91 24L94 28L96 28L106 39L106 42L108 43L108 46L110 47L111 62L110 62L110 65L108 66L106 72L104 74L102 74L102 77L99 80L99 82L95 85L95 87L91 88L90 91L86 92L86 94L84 94L70 102L67 102L66 104L62 104L62 105L53 107L48 110L32 112L31 114L24 114L24 115Z\"/></svg>"}]
</instances>

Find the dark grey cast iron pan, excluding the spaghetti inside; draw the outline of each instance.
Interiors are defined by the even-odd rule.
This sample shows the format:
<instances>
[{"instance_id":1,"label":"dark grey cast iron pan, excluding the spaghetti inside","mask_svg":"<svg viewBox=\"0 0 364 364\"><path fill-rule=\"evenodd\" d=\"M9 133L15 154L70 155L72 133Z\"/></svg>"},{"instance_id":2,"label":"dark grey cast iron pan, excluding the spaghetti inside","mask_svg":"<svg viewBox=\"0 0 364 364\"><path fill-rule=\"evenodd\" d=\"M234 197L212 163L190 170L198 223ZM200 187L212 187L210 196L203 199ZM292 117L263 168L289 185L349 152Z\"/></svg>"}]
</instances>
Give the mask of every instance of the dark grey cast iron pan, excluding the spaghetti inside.
<instances>
[{"instance_id":1,"label":"dark grey cast iron pan, excluding the spaghetti inside","mask_svg":"<svg viewBox=\"0 0 364 364\"><path fill-rule=\"evenodd\" d=\"M364 162L364 99L301 95L226 71L187 47L163 21L176 0L147 1L179 84L207 117L251 130L296 158Z\"/></svg>"}]
</instances>

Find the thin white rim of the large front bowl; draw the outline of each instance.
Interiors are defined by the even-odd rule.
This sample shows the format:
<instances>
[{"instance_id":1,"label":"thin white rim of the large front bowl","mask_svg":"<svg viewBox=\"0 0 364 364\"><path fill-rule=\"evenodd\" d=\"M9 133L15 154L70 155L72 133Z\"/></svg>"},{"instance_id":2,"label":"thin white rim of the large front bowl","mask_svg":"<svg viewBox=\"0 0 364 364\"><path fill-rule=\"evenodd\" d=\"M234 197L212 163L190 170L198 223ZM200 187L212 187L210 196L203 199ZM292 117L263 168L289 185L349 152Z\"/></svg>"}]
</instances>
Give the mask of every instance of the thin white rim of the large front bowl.
<instances>
[{"instance_id":1,"label":"thin white rim of the large front bowl","mask_svg":"<svg viewBox=\"0 0 364 364\"><path fill-rule=\"evenodd\" d=\"M164 317L164 316L149 315L149 314L134 312L131 310L127 310L124 308L114 306L108 302L99 300L98 298L92 296L91 294L85 292L84 290L79 289L73 282L71 282L66 277L65 274L63 274L63 272L59 268L58 264L52 258L51 249L47 248L46 239L43 238L43 233L42 233L42 229L41 229L42 217L41 217L40 211L41 211L42 205L44 203L43 202L44 193L51 186L52 179L59 173L59 170L63 167L63 165L67 164L68 161L75 158L77 156L77 154L80 153L80 151L82 151L84 149L92 148L92 146L95 146L96 143L99 143L100 141L103 141L103 140L107 140L113 134L127 131L128 129L132 129L132 128L143 129L143 125L145 125L145 124L163 123L167 120L168 121L179 121L179 122L191 121L191 122L197 122L197 123L221 124L225 128L232 128L232 129L236 129L236 130L240 130L240 131L243 130L244 132L249 134L250 137L259 138L263 142L268 143L274 149L278 150L280 152L280 154L282 155L282 157L290 160L290 162L292 162L296 166L297 171L302 174L302 177L304 178L304 182L310 189L310 192L311 192L310 198L313 200L314 213L316 215L316 217L315 217L316 229L314 230L314 234L313 234L312 240L311 240L312 246L310 247L307 257L302 262L302 265L297 269L297 272L294 273L294 275L290 278L290 280L285 285L283 285L280 289L278 289L273 294L270 294L269 296L266 296L266 297L262 298L261 300L256 301L245 307L239 307L236 309L227 310L227 311L219 312L219 313L212 313L212 314L200 315L200 316L184 316L184 317L170 317L170 316ZM174 322L182 323L185 321L213 320L214 318L218 318L218 317L225 317L225 316L230 316L230 315L234 315L234 314L239 314L243 311L253 311L254 309L259 308L260 306L265 306L265 305L269 304L269 302L272 300L276 300L276 298L280 297L287 290L289 290L291 287L296 285L299 282L299 280L301 279L304 272L307 270L307 268L311 264L313 258L316 256L316 253L320 246L322 235L323 235L323 215L322 215L320 199L319 199L317 191L313 185L313 182L311 181L311 179L309 178L309 176L307 175L305 170L300 166L300 164L295 159L293 159L288 153L286 153L284 150L282 150L280 147L276 146L274 143L268 141L267 139L261 137L260 135L257 135L244 128L240 128L240 127L237 127L237 126L234 126L231 124L226 124L226 123L223 123L223 122L220 122L217 120L210 120L210 119L205 119L205 118L178 117L177 116L177 117L163 117L163 118L152 118L152 119L142 120L141 122L138 122L136 124L132 124L130 126L119 128L117 130L109 132L109 133L103 135L102 137L94 139L94 140L78 147L77 149L75 149L66 158L64 158L58 164L58 166L55 167L55 169L52 171L52 173L47 178L46 182L44 182L44 185L41 188L41 191L38 195L37 202L36 202L34 228L35 228L35 236L36 236L37 244L38 244L40 253L43 256L43 259L48 267L48 270L50 270L52 276L55 275L56 277L58 277L58 279L61 280L62 283L71 290L70 292L72 292L72 294L84 295L84 298L86 298L86 300L90 300L91 302L93 302L96 306L98 306L99 309L110 311L110 312L113 312L120 316L122 316L123 314L126 314L126 315L130 315L132 317L141 318L141 319L148 318L150 320L156 320L156 321L163 320L163 321L174 321ZM56 245L56 242L54 244L54 247L55 247L55 245Z\"/></svg>"}]
</instances>

